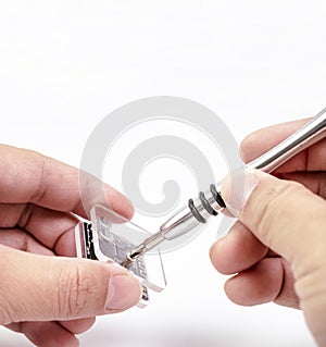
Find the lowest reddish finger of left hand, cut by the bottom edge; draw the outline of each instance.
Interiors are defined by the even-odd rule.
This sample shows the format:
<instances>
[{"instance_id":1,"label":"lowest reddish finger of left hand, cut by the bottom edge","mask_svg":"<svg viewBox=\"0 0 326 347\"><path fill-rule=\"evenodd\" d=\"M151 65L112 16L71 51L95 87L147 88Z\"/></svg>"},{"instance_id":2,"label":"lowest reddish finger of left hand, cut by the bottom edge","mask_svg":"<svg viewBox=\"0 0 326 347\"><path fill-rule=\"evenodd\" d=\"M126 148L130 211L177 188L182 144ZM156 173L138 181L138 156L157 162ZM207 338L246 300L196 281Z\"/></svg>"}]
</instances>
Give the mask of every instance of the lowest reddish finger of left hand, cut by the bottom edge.
<instances>
[{"instance_id":1,"label":"lowest reddish finger of left hand, cut by the bottom edge","mask_svg":"<svg viewBox=\"0 0 326 347\"><path fill-rule=\"evenodd\" d=\"M22 322L8 325L16 333L23 333L37 347L78 347L73 333L58 322Z\"/></svg>"}]
</instances>

